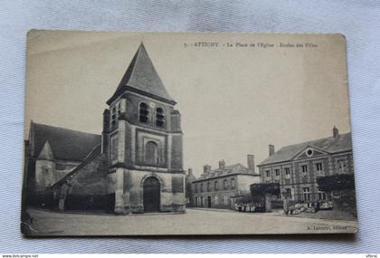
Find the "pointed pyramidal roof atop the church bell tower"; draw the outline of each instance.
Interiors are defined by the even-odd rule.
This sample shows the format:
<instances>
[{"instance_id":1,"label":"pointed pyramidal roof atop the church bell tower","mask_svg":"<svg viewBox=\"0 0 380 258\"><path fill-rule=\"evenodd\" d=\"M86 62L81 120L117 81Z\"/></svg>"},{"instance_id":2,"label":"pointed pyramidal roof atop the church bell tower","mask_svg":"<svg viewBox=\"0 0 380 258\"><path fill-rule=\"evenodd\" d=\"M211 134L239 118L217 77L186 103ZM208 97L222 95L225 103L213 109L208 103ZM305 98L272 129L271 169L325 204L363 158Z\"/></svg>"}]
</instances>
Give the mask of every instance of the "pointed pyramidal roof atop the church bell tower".
<instances>
[{"instance_id":1,"label":"pointed pyramidal roof atop the church bell tower","mask_svg":"<svg viewBox=\"0 0 380 258\"><path fill-rule=\"evenodd\" d=\"M119 82L118 88L107 101L107 104L110 104L110 102L127 90L137 91L138 93L148 95L152 98L166 100L173 104L176 103L176 101L170 97L169 93L167 93L143 43L140 43L138 52L133 57L132 62L130 62L127 72L125 72Z\"/></svg>"}]
</instances>

